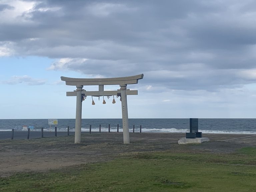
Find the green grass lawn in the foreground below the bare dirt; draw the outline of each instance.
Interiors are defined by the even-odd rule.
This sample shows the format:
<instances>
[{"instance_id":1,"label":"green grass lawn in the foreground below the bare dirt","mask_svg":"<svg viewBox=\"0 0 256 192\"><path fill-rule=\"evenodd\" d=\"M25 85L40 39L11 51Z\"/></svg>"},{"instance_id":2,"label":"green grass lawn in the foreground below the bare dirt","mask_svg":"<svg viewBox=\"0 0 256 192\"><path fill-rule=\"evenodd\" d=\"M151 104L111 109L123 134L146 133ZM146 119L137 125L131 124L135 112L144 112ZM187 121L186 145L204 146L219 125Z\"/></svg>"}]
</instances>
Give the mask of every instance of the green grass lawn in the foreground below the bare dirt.
<instances>
[{"instance_id":1,"label":"green grass lawn in the foreground below the bare dirt","mask_svg":"<svg viewBox=\"0 0 256 192\"><path fill-rule=\"evenodd\" d=\"M0 191L256 191L256 148L232 154L131 153L104 162L0 178Z\"/></svg>"}]
</instances>

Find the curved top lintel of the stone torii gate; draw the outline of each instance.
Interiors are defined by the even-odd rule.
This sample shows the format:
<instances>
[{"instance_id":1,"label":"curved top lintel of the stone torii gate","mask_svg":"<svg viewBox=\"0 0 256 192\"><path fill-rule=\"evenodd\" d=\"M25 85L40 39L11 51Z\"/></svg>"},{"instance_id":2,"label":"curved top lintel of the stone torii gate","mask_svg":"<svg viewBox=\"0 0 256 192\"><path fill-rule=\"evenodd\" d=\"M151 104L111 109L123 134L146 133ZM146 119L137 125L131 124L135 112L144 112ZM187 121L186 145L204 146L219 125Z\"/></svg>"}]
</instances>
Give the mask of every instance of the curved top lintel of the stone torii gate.
<instances>
[{"instance_id":1,"label":"curved top lintel of the stone torii gate","mask_svg":"<svg viewBox=\"0 0 256 192\"><path fill-rule=\"evenodd\" d=\"M60 77L62 81L66 81L66 85L127 85L137 84L139 79L143 79L143 74L128 76L128 77L115 77L115 78L70 78Z\"/></svg>"}]
</instances>

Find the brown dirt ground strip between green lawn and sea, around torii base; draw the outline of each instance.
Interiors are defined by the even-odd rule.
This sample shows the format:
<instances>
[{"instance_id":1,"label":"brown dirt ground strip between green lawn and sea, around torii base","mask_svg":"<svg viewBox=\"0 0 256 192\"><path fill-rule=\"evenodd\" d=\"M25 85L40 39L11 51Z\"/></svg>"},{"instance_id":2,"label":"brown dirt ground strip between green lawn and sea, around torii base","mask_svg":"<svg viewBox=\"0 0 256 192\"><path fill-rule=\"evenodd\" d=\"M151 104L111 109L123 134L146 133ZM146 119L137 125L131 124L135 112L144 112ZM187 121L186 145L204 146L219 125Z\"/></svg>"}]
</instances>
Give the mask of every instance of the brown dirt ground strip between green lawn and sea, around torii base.
<instances>
[{"instance_id":1,"label":"brown dirt ground strip between green lawn and sea, around torii base","mask_svg":"<svg viewBox=\"0 0 256 192\"><path fill-rule=\"evenodd\" d=\"M230 153L242 147L256 147L256 136L252 135L203 134L210 142L178 145L178 139L184 136L185 133L130 133L131 144L123 144L122 133L83 133L80 144L74 144L74 136L0 140L0 176L109 161L130 152ZM227 139L234 140L223 141Z\"/></svg>"}]
</instances>

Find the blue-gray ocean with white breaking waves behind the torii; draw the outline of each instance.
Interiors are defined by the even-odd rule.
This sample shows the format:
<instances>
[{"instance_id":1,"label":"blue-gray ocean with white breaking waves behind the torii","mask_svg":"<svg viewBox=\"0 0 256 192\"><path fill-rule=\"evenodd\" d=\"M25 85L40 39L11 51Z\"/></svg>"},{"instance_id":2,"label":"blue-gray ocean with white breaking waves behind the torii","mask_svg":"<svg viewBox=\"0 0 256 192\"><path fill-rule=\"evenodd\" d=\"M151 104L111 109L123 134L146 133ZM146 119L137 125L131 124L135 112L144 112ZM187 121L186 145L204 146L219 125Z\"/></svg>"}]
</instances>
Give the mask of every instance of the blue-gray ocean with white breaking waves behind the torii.
<instances>
[{"instance_id":1,"label":"blue-gray ocean with white breaking waves behind the torii","mask_svg":"<svg viewBox=\"0 0 256 192\"><path fill-rule=\"evenodd\" d=\"M122 119L82 119L82 131L117 131L122 132ZM202 133L223 133L223 134L256 134L256 119L198 119L199 131ZM142 132L163 132L163 133L185 133L189 132L189 119L129 119L129 129L132 132L135 125L135 132L139 132L140 125ZM50 131L48 119L0 119L0 131L21 130L22 126L34 126L45 131ZM70 131L75 130L75 119L58 119L57 130L66 131L67 126ZM51 126L54 130L54 125Z\"/></svg>"}]
</instances>

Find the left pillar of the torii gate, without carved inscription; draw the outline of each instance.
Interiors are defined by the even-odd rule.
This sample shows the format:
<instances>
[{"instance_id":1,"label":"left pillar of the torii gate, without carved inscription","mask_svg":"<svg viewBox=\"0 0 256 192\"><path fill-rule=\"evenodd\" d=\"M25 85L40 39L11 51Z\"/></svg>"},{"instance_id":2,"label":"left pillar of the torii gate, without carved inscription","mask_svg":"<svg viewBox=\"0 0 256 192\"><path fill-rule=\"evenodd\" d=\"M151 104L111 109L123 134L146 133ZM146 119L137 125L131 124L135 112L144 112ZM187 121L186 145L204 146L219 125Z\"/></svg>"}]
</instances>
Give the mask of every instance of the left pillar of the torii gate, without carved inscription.
<instances>
[{"instance_id":1,"label":"left pillar of the torii gate, without carved inscription","mask_svg":"<svg viewBox=\"0 0 256 192\"><path fill-rule=\"evenodd\" d=\"M75 143L81 142L82 125L82 91L83 85L76 86L76 125L75 125Z\"/></svg>"}]
</instances>

